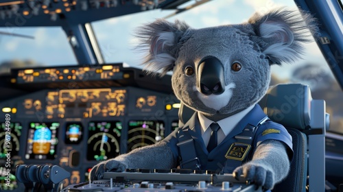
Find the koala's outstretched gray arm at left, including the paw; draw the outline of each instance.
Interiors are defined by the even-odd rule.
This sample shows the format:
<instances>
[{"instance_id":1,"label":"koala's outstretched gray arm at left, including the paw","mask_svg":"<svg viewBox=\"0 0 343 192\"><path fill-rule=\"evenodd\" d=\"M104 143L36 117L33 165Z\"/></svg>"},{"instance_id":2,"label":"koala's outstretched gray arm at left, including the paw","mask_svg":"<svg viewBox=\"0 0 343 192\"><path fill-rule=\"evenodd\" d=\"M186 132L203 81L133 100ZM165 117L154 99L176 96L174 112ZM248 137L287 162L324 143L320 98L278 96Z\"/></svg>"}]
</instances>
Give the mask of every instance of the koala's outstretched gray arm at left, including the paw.
<instances>
[{"instance_id":1,"label":"koala's outstretched gray arm at left, including the paw","mask_svg":"<svg viewBox=\"0 0 343 192\"><path fill-rule=\"evenodd\" d=\"M171 169L173 167L176 167L173 152L167 143L161 141L95 165L89 174L89 179L101 179L106 171L120 172L127 168Z\"/></svg>"}]
</instances>

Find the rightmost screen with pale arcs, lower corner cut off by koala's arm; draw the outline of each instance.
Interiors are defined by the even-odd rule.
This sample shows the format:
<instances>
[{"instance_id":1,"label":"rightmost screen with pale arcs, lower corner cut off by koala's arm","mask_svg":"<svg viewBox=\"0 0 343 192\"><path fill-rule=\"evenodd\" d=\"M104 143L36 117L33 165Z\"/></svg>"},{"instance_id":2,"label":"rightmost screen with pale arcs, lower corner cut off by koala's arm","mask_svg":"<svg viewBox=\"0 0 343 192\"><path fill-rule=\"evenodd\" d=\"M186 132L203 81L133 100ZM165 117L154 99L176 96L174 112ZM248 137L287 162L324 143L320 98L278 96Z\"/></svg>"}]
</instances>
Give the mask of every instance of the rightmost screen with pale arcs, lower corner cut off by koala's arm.
<instances>
[{"instance_id":1,"label":"rightmost screen with pale arcs, lower corner cut off by koala's arm","mask_svg":"<svg viewBox=\"0 0 343 192\"><path fill-rule=\"evenodd\" d=\"M128 151L152 145L165 137L163 121L129 121Z\"/></svg>"}]
</instances>

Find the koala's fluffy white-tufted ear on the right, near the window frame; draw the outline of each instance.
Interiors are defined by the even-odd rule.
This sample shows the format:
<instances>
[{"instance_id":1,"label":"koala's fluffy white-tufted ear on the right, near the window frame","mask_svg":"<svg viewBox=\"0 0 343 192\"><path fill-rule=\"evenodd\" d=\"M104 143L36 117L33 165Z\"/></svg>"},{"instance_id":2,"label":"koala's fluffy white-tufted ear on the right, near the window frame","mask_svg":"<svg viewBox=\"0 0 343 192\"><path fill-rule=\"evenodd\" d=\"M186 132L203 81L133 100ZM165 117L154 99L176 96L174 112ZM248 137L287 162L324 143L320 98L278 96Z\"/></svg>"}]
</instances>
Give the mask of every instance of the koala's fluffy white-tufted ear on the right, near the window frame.
<instances>
[{"instance_id":1,"label":"koala's fluffy white-tufted ear on the right, near the window frame","mask_svg":"<svg viewBox=\"0 0 343 192\"><path fill-rule=\"evenodd\" d=\"M294 62L301 58L304 51L302 43L313 41L310 32L314 36L318 35L315 19L297 10L281 8L262 16L255 14L248 23L252 24L257 36L262 38L263 43L259 43L261 50L271 64Z\"/></svg>"}]
</instances>

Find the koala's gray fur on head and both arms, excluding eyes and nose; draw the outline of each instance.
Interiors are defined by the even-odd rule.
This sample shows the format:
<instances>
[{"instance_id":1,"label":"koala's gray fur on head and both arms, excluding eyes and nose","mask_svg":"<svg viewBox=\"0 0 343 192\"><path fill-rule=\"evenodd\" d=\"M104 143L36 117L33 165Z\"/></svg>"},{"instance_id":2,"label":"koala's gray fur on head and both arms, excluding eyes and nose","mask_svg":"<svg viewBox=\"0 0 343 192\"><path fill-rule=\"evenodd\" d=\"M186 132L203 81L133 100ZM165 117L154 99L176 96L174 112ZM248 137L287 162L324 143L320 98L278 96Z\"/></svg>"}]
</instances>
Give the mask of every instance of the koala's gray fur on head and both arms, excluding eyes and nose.
<instances>
[{"instance_id":1,"label":"koala's gray fur on head and both arms, excluding eyes and nose","mask_svg":"<svg viewBox=\"0 0 343 192\"><path fill-rule=\"evenodd\" d=\"M137 36L139 49L146 51L145 69L161 71L162 75L173 69L171 82L176 97L212 121L219 121L256 104L268 89L270 64L300 58L301 44L308 43L309 32L316 34L317 30L309 14L279 9L263 16L255 14L241 25L204 29L159 19L141 27ZM200 93L198 66L208 56L220 60L224 69L225 91L220 95ZM241 64L240 71L231 69L234 62ZM187 67L193 68L192 75L185 74ZM164 142L135 149L96 165L91 178L126 167L169 169L177 163L171 154ZM288 170L287 153L279 141L261 143L253 159L236 169L265 189L285 178Z\"/></svg>"}]
</instances>

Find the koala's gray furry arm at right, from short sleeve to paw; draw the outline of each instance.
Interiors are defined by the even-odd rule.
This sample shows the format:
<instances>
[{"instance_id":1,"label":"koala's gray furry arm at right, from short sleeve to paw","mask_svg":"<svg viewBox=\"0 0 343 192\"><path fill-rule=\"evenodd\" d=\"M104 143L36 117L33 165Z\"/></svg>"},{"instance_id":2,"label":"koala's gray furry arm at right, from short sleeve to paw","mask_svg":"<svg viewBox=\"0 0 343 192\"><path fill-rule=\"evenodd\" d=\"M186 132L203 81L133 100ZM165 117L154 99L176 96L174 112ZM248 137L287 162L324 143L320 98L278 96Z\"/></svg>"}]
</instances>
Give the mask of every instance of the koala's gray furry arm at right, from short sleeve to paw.
<instances>
[{"instance_id":1,"label":"koala's gray furry arm at right, from short sleeve to paw","mask_svg":"<svg viewBox=\"0 0 343 192\"><path fill-rule=\"evenodd\" d=\"M250 162L233 171L233 176L243 174L247 181L268 190L287 176L289 165L285 145L280 141L266 140L258 145Z\"/></svg>"}]
</instances>

